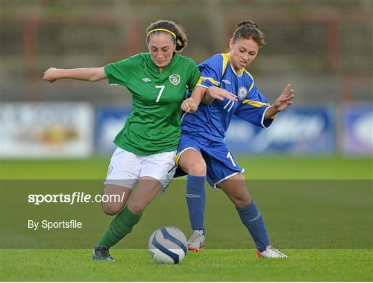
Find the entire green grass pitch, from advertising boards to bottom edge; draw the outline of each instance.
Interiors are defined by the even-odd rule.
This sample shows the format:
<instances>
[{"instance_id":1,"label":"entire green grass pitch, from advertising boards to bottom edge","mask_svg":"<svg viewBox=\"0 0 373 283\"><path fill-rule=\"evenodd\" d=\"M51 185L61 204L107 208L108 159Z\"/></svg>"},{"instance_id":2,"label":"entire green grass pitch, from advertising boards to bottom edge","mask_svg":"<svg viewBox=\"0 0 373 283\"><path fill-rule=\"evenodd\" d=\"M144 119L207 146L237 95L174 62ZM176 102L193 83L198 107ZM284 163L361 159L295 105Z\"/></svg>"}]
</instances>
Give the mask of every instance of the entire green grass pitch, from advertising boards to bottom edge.
<instances>
[{"instance_id":1,"label":"entire green grass pitch, from advertising boards to bottom edge","mask_svg":"<svg viewBox=\"0 0 373 283\"><path fill-rule=\"evenodd\" d=\"M265 217L271 242L289 255L287 260L258 260L234 207L224 193L207 187L207 248L189 253L176 266L155 264L146 251L155 228L173 225L189 233L185 180L174 180L149 205L133 233L113 248L116 261L93 262L91 248L111 220L100 205L35 206L27 203L27 195L77 188L100 193L108 159L3 160L0 279L372 281L372 159L242 157L238 162L246 169L247 187ZM30 218L78 219L84 228L30 231Z\"/></svg>"}]
</instances>

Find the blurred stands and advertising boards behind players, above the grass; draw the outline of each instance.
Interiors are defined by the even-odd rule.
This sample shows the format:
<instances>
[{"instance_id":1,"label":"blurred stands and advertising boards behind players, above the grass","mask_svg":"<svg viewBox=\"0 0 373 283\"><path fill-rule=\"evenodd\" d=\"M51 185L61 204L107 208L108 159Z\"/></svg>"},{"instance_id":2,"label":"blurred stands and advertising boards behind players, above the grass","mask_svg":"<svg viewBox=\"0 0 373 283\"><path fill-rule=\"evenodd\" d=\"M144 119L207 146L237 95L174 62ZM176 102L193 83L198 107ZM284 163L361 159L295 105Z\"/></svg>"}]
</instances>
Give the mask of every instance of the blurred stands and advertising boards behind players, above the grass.
<instances>
[{"instance_id":1,"label":"blurred stands and advertising boards behind players, above the grass","mask_svg":"<svg viewBox=\"0 0 373 283\"><path fill-rule=\"evenodd\" d=\"M157 19L186 28L197 63L228 47L252 19L267 46L248 70L274 101L286 84L295 105L270 130L236 119L236 155L371 157L372 1L1 1L1 156L110 156L131 95L107 81L42 81L49 67L104 66L146 52Z\"/></svg>"}]
</instances>

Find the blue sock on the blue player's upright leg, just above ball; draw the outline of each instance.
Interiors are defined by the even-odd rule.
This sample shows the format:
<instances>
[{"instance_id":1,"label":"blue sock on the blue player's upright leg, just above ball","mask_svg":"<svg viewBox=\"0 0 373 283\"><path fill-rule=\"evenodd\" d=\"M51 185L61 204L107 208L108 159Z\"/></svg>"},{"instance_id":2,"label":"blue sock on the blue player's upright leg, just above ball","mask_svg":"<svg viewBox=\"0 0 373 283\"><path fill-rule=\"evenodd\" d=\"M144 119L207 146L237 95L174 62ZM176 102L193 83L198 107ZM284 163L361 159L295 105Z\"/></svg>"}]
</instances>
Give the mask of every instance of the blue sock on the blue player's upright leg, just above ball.
<instances>
[{"instance_id":1,"label":"blue sock on the blue player's upright leg, just above ball","mask_svg":"<svg viewBox=\"0 0 373 283\"><path fill-rule=\"evenodd\" d=\"M204 193L204 181L206 176L188 175L187 179L187 204L189 219L193 230L203 230L204 204L206 196Z\"/></svg>"}]
</instances>

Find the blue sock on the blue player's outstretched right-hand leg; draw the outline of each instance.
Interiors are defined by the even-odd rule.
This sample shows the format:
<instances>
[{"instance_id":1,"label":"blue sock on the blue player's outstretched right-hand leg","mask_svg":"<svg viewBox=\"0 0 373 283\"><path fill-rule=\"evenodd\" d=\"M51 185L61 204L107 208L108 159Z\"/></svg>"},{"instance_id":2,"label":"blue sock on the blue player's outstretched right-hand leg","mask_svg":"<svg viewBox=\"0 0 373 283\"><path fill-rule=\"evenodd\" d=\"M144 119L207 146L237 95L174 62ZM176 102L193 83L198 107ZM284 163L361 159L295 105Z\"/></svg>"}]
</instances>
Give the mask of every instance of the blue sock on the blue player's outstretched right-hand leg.
<instances>
[{"instance_id":1,"label":"blue sock on the blue player's outstretched right-hand leg","mask_svg":"<svg viewBox=\"0 0 373 283\"><path fill-rule=\"evenodd\" d=\"M267 229L265 228L264 220L254 200L251 199L251 204L246 207L237 207L238 215L240 215L242 223L246 226L247 230L255 242L256 248L259 251L265 251L269 245L269 238Z\"/></svg>"}]
</instances>

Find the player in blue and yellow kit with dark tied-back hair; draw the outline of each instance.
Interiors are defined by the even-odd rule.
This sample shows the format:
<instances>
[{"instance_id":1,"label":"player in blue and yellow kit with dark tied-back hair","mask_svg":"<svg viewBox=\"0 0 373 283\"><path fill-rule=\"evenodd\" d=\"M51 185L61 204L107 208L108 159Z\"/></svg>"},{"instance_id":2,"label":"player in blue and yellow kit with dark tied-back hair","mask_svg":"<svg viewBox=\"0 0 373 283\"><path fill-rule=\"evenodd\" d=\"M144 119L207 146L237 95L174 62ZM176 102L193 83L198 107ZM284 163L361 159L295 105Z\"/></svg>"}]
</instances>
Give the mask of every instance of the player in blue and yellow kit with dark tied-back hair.
<instances>
[{"instance_id":1,"label":"player in blue and yellow kit with dark tied-back hair","mask_svg":"<svg viewBox=\"0 0 373 283\"><path fill-rule=\"evenodd\" d=\"M204 246L204 182L207 179L213 188L222 189L236 206L242 223L254 239L258 257L286 257L269 244L262 215L247 192L243 170L224 142L233 115L268 128L274 115L292 103L293 90L287 85L270 105L245 70L265 45L264 38L253 21L239 23L229 42L230 52L214 55L199 66L198 86L210 87L203 104L193 95L182 104L187 113L182 117L182 137L175 160L178 170L188 174L187 204L193 229L188 242L191 251ZM211 88L213 86L216 89ZM237 95L236 101L221 97L222 92Z\"/></svg>"}]
</instances>

